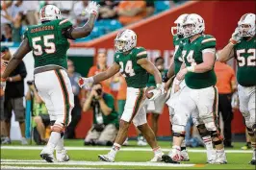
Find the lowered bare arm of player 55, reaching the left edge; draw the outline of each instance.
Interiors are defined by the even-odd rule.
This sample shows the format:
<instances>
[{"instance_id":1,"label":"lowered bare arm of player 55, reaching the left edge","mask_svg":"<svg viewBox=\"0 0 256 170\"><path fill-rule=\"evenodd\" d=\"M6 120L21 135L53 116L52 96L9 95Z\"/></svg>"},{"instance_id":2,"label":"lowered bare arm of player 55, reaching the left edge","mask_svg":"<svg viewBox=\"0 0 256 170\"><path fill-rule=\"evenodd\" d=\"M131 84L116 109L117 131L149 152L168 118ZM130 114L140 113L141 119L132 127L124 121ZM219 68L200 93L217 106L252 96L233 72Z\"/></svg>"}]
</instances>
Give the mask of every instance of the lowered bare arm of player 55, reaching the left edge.
<instances>
[{"instance_id":1,"label":"lowered bare arm of player 55, reaching the left edge","mask_svg":"<svg viewBox=\"0 0 256 170\"><path fill-rule=\"evenodd\" d=\"M29 46L29 40L28 38L25 38L20 46L18 47L17 51L13 54L13 58L11 61L9 61L9 64L6 67L6 70L4 71L3 75L1 75L1 81L6 80L9 75L13 72L13 70L17 67L19 62L22 61L22 59L31 51L31 48Z\"/></svg>"}]
</instances>

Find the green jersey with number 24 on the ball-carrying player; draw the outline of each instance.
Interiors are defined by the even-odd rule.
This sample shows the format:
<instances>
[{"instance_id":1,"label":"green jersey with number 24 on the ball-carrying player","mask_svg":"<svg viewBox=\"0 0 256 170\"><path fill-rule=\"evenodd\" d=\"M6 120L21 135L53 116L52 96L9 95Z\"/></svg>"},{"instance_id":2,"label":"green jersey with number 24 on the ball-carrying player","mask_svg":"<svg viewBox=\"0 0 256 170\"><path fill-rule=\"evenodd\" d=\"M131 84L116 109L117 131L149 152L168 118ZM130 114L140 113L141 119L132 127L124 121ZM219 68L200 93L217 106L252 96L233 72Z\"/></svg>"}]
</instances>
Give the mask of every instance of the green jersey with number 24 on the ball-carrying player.
<instances>
[{"instance_id":1,"label":"green jersey with number 24 on the ball-carrying player","mask_svg":"<svg viewBox=\"0 0 256 170\"><path fill-rule=\"evenodd\" d=\"M115 62L120 65L120 73L125 78L128 87L143 88L148 81L148 73L138 60L147 58L144 48L136 47L127 55L123 53L115 53Z\"/></svg>"}]
</instances>

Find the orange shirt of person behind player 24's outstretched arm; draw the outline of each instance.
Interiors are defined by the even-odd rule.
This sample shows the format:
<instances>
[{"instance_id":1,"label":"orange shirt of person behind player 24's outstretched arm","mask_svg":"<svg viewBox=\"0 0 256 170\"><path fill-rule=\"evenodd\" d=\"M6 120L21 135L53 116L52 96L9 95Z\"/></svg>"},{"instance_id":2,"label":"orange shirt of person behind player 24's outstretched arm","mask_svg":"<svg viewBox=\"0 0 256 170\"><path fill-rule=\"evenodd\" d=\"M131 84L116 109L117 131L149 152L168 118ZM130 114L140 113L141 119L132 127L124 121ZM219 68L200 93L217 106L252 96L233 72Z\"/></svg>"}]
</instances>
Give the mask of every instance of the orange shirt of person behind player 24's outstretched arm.
<instances>
[{"instance_id":1,"label":"orange shirt of person behind player 24's outstretched arm","mask_svg":"<svg viewBox=\"0 0 256 170\"><path fill-rule=\"evenodd\" d=\"M99 67L97 65L91 66L89 73L88 73L88 77L91 76L95 76L96 74L106 71L108 67L106 67L106 69L100 70ZM101 82L102 85L102 90L106 93L110 93L111 94L111 83L110 80L105 80L103 82Z\"/></svg>"}]
</instances>

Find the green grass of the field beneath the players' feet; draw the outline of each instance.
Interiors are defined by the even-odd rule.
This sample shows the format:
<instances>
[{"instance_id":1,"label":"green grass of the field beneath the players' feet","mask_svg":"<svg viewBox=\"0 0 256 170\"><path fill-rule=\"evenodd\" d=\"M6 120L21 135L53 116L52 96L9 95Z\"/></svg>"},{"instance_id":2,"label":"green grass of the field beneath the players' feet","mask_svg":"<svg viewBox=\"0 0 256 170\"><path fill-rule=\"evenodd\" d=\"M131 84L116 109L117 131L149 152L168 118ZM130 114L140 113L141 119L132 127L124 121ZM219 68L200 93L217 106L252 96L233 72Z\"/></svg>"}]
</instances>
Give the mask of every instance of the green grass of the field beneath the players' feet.
<instances>
[{"instance_id":1,"label":"green grass of the field beneath the players' feet","mask_svg":"<svg viewBox=\"0 0 256 170\"><path fill-rule=\"evenodd\" d=\"M12 145L19 145L19 142L13 142ZM132 146L128 146L128 148L138 148L136 146L136 141L130 141ZM169 142L159 142L160 146L163 148L169 148ZM235 149L240 149L243 146L243 143L234 143ZM83 140L65 140L65 146L83 146ZM143 147L148 148L148 147ZM196 148L200 149L200 148ZM201 148L203 149L203 148ZM190 150L190 149L189 149ZM85 160L85 161L98 161L97 156L99 154L107 154L108 151L68 151L68 155L72 160ZM39 150L9 150L9 149L1 149L1 159L23 159L23 160L38 160L39 158ZM150 160L153 157L152 152L144 152L144 151L121 151L118 152L115 161L127 161L127 162L145 162ZM233 154L227 153L228 164L225 165L210 165L205 164L206 154L205 153L190 153L191 161L183 162L189 164L196 164L196 167L184 167L183 169L255 169L255 166L249 165L248 161L251 159L251 154ZM12 162L10 164L5 165L13 165ZM1 164L3 166L3 164ZM29 165L21 165L17 164L14 166L29 166ZM32 166L32 165L30 165ZM166 169L166 167L156 167L156 166L112 166L112 165L66 165L66 164L43 164L43 165L33 165L36 167L91 167L91 168L115 168L115 169ZM170 167L167 167L170 169ZM174 169L179 169L175 167Z\"/></svg>"}]
</instances>

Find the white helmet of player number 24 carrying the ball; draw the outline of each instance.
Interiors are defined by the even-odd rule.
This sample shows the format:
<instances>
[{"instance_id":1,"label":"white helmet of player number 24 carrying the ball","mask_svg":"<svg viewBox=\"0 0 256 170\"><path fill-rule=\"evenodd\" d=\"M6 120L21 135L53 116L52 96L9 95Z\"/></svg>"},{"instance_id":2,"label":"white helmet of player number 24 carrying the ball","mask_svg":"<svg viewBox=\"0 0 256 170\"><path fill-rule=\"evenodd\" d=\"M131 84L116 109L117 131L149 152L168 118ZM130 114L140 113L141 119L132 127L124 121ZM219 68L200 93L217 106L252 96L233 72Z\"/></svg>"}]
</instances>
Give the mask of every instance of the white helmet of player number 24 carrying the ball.
<instances>
[{"instance_id":1,"label":"white helmet of player number 24 carrying the ball","mask_svg":"<svg viewBox=\"0 0 256 170\"><path fill-rule=\"evenodd\" d=\"M120 31L115 37L115 52L124 53L137 45L137 35L134 31L126 29Z\"/></svg>"}]
</instances>

